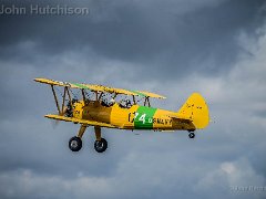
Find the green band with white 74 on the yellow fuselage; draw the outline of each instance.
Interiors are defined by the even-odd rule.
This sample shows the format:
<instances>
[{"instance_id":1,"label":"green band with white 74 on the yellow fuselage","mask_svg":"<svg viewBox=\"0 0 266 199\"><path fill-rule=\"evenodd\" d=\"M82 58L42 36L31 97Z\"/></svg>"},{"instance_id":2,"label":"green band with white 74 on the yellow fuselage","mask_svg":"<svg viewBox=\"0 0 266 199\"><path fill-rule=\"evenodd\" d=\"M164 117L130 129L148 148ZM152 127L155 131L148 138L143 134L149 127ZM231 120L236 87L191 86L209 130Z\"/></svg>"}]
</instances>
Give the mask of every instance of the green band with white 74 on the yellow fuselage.
<instances>
[{"instance_id":1,"label":"green band with white 74 on the yellow fuselage","mask_svg":"<svg viewBox=\"0 0 266 199\"><path fill-rule=\"evenodd\" d=\"M157 108L140 106L135 113L134 127L136 129L152 129L153 116Z\"/></svg>"}]
</instances>

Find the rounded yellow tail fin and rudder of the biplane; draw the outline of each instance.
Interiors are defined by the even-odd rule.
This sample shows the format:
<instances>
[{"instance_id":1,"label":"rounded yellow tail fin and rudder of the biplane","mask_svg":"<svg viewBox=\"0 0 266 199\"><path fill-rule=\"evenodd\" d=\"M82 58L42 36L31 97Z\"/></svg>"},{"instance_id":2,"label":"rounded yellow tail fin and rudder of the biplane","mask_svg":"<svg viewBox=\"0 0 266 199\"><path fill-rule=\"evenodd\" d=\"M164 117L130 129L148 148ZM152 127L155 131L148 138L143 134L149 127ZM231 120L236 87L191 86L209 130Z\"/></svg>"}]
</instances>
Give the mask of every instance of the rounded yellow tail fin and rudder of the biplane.
<instances>
[{"instance_id":1,"label":"rounded yellow tail fin and rudder of the biplane","mask_svg":"<svg viewBox=\"0 0 266 199\"><path fill-rule=\"evenodd\" d=\"M193 93L177 112L180 117L190 118L196 128L205 128L208 125L208 107L200 93Z\"/></svg>"}]
</instances>

